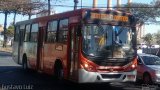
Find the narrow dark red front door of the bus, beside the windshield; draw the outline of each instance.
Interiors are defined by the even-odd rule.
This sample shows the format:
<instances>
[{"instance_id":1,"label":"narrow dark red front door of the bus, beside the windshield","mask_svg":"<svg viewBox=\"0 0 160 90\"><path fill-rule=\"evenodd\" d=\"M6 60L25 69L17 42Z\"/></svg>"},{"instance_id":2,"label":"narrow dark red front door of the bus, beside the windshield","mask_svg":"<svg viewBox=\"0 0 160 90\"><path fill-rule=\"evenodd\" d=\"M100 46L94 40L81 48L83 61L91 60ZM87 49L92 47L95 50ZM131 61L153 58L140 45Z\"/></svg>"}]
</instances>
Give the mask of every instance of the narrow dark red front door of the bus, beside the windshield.
<instances>
[{"instance_id":1,"label":"narrow dark red front door of the bus, beside the windshield","mask_svg":"<svg viewBox=\"0 0 160 90\"><path fill-rule=\"evenodd\" d=\"M77 25L72 25L70 27L70 45L69 45L69 78L72 80L78 80L78 47L79 47L79 38L76 35Z\"/></svg>"}]
</instances>

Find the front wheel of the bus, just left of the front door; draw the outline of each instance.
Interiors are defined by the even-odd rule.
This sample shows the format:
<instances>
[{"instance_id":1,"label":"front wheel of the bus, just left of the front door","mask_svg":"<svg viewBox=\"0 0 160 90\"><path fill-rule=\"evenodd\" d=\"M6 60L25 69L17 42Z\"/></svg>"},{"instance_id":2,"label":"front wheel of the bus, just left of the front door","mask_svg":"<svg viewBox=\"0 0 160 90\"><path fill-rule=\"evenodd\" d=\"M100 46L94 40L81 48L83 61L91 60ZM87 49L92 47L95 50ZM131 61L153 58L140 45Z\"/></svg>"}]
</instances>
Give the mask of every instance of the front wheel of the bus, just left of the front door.
<instances>
[{"instance_id":1,"label":"front wheel of the bus, just left of the front door","mask_svg":"<svg viewBox=\"0 0 160 90\"><path fill-rule=\"evenodd\" d=\"M57 63L54 68L54 75L55 75L56 80L62 81L63 80L63 73L64 73L64 71L63 71L62 64Z\"/></svg>"}]
</instances>

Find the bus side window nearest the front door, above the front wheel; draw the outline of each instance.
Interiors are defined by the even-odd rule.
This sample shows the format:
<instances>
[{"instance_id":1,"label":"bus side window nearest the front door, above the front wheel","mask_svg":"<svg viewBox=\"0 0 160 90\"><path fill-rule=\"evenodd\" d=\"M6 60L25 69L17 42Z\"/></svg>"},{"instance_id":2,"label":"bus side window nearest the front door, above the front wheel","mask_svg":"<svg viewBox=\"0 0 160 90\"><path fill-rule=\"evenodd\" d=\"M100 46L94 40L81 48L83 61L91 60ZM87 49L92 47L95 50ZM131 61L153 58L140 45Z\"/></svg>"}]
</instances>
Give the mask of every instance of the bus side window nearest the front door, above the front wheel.
<instances>
[{"instance_id":1,"label":"bus side window nearest the front door, above the front wheel","mask_svg":"<svg viewBox=\"0 0 160 90\"><path fill-rule=\"evenodd\" d=\"M60 20L58 42L66 43L68 34L68 19Z\"/></svg>"}]
</instances>

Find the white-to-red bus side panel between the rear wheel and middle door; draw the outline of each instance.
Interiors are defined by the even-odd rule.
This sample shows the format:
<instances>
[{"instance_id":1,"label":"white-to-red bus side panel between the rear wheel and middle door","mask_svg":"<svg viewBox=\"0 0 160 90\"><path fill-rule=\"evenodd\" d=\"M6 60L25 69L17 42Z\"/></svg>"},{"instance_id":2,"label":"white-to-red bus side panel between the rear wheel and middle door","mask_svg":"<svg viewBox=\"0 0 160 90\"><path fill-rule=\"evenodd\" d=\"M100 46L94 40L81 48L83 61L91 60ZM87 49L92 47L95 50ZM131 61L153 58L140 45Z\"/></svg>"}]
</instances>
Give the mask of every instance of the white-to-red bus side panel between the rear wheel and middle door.
<instances>
[{"instance_id":1,"label":"white-to-red bus side panel between the rear wheel and middle door","mask_svg":"<svg viewBox=\"0 0 160 90\"><path fill-rule=\"evenodd\" d=\"M23 49L27 55L29 67L36 69L37 43L36 42L26 42L26 43L24 43Z\"/></svg>"}]
</instances>

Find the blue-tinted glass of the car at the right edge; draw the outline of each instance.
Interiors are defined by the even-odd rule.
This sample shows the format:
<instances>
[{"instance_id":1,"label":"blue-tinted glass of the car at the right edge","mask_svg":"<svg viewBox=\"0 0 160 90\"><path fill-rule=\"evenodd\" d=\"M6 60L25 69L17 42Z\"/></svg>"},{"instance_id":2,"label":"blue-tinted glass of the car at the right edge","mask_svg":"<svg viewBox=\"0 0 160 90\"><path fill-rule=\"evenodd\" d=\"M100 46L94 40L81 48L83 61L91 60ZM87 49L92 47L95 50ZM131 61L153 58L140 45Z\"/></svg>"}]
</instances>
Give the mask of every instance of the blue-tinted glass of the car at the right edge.
<instances>
[{"instance_id":1,"label":"blue-tinted glass of the car at the right edge","mask_svg":"<svg viewBox=\"0 0 160 90\"><path fill-rule=\"evenodd\" d=\"M142 56L146 65L160 65L160 58L158 56Z\"/></svg>"}]
</instances>

